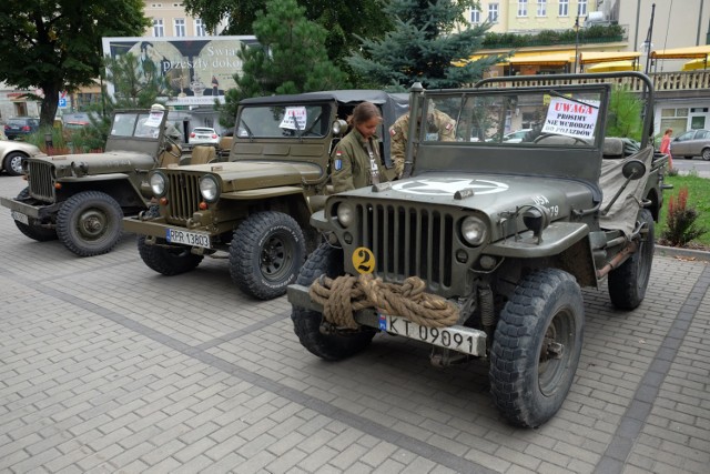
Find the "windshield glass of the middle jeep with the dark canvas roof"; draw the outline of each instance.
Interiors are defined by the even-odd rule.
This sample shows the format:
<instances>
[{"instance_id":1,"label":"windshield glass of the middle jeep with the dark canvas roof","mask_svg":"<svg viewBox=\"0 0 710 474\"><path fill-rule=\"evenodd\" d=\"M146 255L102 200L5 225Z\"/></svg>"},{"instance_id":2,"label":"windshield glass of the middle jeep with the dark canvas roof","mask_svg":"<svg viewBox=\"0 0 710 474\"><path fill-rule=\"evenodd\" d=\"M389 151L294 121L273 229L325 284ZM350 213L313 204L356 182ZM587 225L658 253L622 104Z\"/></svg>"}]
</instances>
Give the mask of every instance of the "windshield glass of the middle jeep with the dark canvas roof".
<instances>
[{"instance_id":1,"label":"windshield glass of the middle jeep with the dark canvas roof","mask_svg":"<svg viewBox=\"0 0 710 474\"><path fill-rule=\"evenodd\" d=\"M331 125L324 104L244 107L237 120L240 138L323 138Z\"/></svg>"}]
</instances>

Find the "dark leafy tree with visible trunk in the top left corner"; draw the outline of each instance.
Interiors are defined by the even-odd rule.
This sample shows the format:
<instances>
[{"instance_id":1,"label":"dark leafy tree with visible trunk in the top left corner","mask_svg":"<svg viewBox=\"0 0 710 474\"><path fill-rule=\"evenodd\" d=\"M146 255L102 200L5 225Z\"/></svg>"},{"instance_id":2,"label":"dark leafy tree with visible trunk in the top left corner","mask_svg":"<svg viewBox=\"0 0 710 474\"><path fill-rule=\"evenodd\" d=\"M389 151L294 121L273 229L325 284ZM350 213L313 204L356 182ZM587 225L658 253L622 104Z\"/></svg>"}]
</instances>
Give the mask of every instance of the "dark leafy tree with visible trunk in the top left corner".
<instances>
[{"instance_id":1,"label":"dark leafy tree with visible trunk in the top left corner","mask_svg":"<svg viewBox=\"0 0 710 474\"><path fill-rule=\"evenodd\" d=\"M51 125L59 93L100 75L101 37L143 33L150 24L143 7L141 0L0 2L0 80L40 88L40 123Z\"/></svg>"}]
</instances>

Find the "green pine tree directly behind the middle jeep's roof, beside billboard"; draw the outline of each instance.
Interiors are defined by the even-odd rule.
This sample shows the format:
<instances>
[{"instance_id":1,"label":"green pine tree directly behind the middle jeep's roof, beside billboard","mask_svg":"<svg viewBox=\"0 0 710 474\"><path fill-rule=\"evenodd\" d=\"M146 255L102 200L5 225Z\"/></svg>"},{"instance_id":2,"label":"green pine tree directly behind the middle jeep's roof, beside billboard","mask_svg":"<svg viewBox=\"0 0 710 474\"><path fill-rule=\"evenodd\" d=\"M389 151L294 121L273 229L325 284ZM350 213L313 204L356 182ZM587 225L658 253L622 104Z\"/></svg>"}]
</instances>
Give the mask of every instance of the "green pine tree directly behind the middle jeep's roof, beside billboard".
<instances>
[{"instance_id":1,"label":"green pine tree directly behind the middle jeep's roof, beside billboard","mask_svg":"<svg viewBox=\"0 0 710 474\"><path fill-rule=\"evenodd\" d=\"M296 0L270 0L266 13L256 14L254 33L262 48L237 52L243 73L234 74L236 88L226 91L225 103L219 105L222 125L234 124L236 105L245 98L347 85L346 74L327 58L325 29L305 19Z\"/></svg>"}]
</instances>

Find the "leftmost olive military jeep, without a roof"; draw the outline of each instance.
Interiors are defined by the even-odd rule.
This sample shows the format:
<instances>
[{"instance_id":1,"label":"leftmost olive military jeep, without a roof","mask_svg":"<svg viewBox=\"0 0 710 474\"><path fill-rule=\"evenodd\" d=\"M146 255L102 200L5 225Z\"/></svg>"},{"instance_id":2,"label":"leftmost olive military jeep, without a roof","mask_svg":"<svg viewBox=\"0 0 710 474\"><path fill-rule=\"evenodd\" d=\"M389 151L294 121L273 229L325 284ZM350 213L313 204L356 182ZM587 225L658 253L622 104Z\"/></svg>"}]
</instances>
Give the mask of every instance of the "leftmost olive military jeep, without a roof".
<instances>
[{"instance_id":1,"label":"leftmost olive military jeep, without a roof","mask_svg":"<svg viewBox=\"0 0 710 474\"><path fill-rule=\"evenodd\" d=\"M80 256L110 252L123 215L148 208L148 172L184 159L165 134L166 119L164 110L116 111L105 152L24 158L28 186L0 204L30 239L59 238Z\"/></svg>"}]
</instances>

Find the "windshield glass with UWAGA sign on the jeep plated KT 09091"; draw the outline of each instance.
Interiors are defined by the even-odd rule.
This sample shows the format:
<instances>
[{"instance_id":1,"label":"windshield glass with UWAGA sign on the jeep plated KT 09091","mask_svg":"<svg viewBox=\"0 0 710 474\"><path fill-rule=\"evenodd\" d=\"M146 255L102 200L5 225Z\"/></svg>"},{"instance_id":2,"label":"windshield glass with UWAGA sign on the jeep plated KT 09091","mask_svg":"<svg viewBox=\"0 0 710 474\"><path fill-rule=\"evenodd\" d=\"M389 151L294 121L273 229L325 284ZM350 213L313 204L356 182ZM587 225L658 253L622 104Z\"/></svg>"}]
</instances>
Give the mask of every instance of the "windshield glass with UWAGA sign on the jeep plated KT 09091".
<instances>
[{"instance_id":1,"label":"windshield glass with UWAGA sign on the jeep plated KT 09091","mask_svg":"<svg viewBox=\"0 0 710 474\"><path fill-rule=\"evenodd\" d=\"M438 140L433 118L446 113L456 122L457 141L474 147L589 148L598 137L602 92L490 89L430 95L423 141Z\"/></svg>"}]
</instances>

